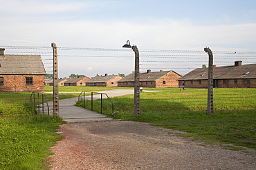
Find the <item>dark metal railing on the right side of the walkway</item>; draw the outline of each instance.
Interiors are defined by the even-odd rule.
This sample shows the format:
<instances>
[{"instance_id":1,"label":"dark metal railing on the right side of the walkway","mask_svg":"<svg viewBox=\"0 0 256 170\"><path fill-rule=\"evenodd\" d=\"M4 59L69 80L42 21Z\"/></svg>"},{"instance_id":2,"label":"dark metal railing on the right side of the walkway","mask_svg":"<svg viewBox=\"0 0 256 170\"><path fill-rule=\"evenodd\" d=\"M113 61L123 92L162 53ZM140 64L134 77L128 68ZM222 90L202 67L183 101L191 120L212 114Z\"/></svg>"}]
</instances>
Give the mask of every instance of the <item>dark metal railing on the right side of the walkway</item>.
<instances>
[{"instance_id":1,"label":"dark metal railing on the right side of the walkway","mask_svg":"<svg viewBox=\"0 0 256 170\"><path fill-rule=\"evenodd\" d=\"M86 96L85 93L91 93L91 96ZM93 94L100 95L100 98L93 98ZM103 95L106 96L106 98L109 99L110 103L103 102ZM98 99L100 99L100 101L98 101ZM78 96L78 101L80 101L80 100L83 101L83 107L84 108L85 108L85 100L91 101L91 111L93 111L93 102L100 103L100 114L103 113L103 104L111 105L112 113L113 113L113 102L107 94L99 93L99 92L81 92Z\"/></svg>"}]
</instances>

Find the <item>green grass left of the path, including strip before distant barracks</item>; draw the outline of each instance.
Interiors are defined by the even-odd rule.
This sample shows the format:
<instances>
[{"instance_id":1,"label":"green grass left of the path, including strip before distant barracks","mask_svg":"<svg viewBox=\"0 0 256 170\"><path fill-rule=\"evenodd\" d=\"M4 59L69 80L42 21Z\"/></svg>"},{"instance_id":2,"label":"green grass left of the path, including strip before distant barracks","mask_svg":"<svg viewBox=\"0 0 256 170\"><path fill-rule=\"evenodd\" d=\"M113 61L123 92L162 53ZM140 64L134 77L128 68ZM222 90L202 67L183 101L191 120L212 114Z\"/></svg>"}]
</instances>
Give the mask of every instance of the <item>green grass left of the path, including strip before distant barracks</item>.
<instances>
[{"instance_id":1,"label":"green grass left of the path, including strip before distant barracks","mask_svg":"<svg viewBox=\"0 0 256 170\"><path fill-rule=\"evenodd\" d=\"M53 87L46 87L51 92ZM60 87L60 92L110 90L106 87ZM46 157L62 136L55 134L64 122L61 118L35 115L31 93L0 93L0 169L49 169ZM60 100L77 97L77 93L59 94ZM46 94L48 101L53 94ZM51 160L50 160L51 161Z\"/></svg>"}]
</instances>

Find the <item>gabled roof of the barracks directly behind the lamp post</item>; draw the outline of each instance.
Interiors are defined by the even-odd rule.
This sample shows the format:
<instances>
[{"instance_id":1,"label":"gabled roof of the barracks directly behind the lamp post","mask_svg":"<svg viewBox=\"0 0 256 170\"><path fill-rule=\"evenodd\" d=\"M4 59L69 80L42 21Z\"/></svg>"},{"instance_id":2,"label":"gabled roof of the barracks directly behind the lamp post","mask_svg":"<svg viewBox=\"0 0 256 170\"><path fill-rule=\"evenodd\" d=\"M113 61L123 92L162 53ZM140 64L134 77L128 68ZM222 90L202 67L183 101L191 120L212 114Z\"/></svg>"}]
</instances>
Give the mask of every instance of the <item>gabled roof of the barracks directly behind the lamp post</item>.
<instances>
[{"instance_id":1,"label":"gabled roof of the barracks directly behind the lamp post","mask_svg":"<svg viewBox=\"0 0 256 170\"><path fill-rule=\"evenodd\" d=\"M145 73L140 73L140 81L156 81L162 76L165 76L166 74L174 72L174 71L162 71L162 72L145 72ZM174 72L175 74L178 74ZM178 74L181 76L180 74ZM129 81L134 81L134 74L129 74L128 76L125 76L118 82L129 82Z\"/></svg>"}]
</instances>

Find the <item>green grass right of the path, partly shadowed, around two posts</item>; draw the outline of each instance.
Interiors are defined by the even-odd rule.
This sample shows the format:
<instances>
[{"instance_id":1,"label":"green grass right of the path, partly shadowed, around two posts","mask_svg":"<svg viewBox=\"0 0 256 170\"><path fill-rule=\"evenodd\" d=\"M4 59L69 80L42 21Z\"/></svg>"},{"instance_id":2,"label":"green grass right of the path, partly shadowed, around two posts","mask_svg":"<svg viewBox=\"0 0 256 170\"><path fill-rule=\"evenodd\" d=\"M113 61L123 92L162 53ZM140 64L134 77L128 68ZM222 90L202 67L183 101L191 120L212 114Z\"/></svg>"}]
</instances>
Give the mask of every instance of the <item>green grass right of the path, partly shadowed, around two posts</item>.
<instances>
[{"instance_id":1,"label":"green grass right of the path, partly shadowed, around two posts","mask_svg":"<svg viewBox=\"0 0 256 170\"><path fill-rule=\"evenodd\" d=\"M138 117L133 116L133 95L111 98L114 112L107 111L107 106L104 106L106 111L103 114L185 131L186 134L179 136L192 140L256 149L256 89L215 88L214 115L210 116L206 114L207 89L154 90L161 92L140 93L141 114ZM95 104L94 108L98 111L100 104Z\"/></svg>"}]
</instances>

